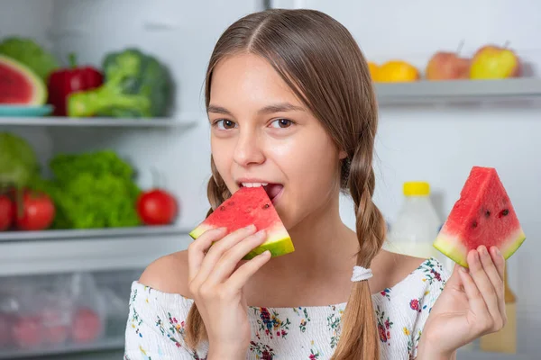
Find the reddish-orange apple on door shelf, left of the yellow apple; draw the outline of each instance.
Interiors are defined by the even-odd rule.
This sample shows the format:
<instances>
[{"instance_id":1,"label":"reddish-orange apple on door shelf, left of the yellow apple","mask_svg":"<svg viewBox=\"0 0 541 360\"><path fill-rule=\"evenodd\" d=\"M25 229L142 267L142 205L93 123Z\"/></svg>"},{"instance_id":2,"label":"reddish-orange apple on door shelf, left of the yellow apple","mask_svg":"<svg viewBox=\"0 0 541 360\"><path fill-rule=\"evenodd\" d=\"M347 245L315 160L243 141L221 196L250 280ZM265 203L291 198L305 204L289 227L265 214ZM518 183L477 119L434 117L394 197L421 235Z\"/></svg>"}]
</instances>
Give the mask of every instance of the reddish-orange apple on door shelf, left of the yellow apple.
<instances>
[{"instance_id":1,"label":"reddish-orange apple on door shelf, left of the yellow apple","mask_svg":"<svg viewBox=\"0 0 541 360\"><path fill-rule=\"evenodd\" d=\"M470 58L463 58L458 52L437 51L426 64L427 80L454 80L470 77Z\"/></svg>"}]
</instances>

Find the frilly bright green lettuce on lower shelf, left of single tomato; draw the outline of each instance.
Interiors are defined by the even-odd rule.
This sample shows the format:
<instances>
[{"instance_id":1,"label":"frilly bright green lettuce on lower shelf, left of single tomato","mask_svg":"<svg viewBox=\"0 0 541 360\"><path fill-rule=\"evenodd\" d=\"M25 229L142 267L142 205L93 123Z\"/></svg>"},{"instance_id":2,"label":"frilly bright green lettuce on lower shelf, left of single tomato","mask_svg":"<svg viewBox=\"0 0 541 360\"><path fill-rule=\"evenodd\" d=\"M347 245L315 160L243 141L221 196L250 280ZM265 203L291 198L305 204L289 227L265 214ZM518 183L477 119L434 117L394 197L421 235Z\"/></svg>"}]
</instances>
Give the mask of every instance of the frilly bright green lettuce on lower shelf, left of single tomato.
<instances>
[{"instance_id":1,"label":"frilly bright green lettuce on lower shelf, left of single tomato","mask_svg":"<svg viewBox=\"0 0 541 360\"><path fill-rule=\"evenodd\" d=\"M57 207L54 229L138 226L135 202L141 189L133 168L109 150L60 154L50 161L55 178L34 182Z\"/></svg>"}]
</instances>

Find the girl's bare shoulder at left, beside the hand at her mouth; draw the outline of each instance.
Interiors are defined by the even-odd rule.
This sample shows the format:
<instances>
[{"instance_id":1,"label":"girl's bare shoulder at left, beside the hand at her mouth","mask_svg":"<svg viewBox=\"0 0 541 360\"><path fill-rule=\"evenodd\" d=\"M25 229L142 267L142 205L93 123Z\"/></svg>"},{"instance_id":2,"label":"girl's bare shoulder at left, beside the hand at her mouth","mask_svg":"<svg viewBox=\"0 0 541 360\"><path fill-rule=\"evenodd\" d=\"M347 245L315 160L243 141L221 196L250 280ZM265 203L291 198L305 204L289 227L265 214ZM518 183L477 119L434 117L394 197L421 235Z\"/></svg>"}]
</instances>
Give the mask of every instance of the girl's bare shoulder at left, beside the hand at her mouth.
<instances>
[{"instance_id":1,"label":"girl's bare shoulder at left, beside the hand at her mouth","mask_svg":"<svg viewBox=\"0 0 541 360\"><path fill-rule=\"evenodd\" d=\"M139 283L162 293L179 293L189 298L188 251L179 251L153 261L142 273Z\"/></svg>"}]
</instances>

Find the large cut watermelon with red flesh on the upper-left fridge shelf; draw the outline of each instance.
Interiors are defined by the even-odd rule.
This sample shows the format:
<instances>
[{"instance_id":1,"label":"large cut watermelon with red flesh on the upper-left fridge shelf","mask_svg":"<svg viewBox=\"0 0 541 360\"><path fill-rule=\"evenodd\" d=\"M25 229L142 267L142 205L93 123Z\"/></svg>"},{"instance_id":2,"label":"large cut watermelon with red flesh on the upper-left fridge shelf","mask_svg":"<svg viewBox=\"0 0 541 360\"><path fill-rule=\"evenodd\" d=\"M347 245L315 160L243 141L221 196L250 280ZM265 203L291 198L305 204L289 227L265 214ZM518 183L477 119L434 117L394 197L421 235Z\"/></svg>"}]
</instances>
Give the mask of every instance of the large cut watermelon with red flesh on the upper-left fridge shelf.
<instances>
[{"instance_id":1,"label":"large cut watermelon with red flesh on the upper-left fridge shelf","mask_svg":"<svg viewBox=\"0 0 541 360\"><path fill-rule=\"evenodd\" d=\"M46 101L43 80L30 67L0 55L0 104L39 106Z\"/></svg>"}]
</instances>

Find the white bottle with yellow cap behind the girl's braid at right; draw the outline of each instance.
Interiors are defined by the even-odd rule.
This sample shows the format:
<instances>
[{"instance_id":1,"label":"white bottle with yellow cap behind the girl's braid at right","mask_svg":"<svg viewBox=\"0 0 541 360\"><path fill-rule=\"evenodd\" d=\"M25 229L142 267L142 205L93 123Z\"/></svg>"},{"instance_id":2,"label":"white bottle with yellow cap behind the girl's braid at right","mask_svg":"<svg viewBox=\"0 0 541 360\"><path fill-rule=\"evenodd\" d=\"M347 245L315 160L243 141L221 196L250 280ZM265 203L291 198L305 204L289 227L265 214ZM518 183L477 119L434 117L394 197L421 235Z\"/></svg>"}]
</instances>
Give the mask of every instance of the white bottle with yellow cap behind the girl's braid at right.
<instances>
[{"instance_id":1,"label":"white bottle with yellow cap behind the girl's braid at right","mask_svg":"<svg viewBox=\"0 0 541 360\"><path fill-rule=\"evenodd\" d=\"M452 261L432 245L442 221L430 201L430 184L420 181L406 182L403 193L404 202L396 221L390 226L384 248L412 257L436 257L451 271Z\"/></svg>"}]
</instances>

